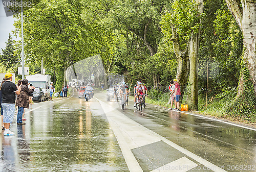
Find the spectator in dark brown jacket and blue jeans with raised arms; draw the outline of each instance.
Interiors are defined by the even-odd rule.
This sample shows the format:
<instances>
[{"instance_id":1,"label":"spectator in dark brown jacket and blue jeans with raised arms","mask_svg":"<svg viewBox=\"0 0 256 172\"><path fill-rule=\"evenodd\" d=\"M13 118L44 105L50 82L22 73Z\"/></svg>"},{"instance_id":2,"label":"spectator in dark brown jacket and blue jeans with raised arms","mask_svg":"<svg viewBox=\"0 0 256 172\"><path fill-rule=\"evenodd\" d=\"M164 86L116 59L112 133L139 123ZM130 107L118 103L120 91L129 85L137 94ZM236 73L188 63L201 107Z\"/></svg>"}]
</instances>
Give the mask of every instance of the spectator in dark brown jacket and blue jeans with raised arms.
<instances>
[{"instance_id":1,"label":"spectator in dark brown jacket and blue jeans with raised arms","mask_svg":"<svg viewBox=\"0 0 256 172\"><path fill-rule=\"evenodd\" d=\"M22 85L20 86L20 94L17 96L16 106L18 107L17 113L17 125L23 125L22 115L24 113L24 108L29 108L29 95L34 91L34 86L28 87L28 80L22 80Z\"/></svg>"}]
</instances>

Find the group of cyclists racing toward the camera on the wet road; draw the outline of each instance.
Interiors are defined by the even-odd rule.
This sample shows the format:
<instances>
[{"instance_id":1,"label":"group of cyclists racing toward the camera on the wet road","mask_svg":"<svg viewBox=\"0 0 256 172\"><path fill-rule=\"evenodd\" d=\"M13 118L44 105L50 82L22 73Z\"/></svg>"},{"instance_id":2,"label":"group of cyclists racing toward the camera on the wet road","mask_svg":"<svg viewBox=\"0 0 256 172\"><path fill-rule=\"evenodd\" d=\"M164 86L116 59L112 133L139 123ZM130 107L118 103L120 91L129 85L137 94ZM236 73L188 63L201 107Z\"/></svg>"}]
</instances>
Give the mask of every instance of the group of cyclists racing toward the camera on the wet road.
<instances>
[{"instance_id":1,"label":"group of cyclists racing toward the camera on the wet road","mask_svg":"<svg viewBox=\"0 0 256 172\"><path fill-rule=\"evenodd\" d=\"M117 84L114 86L114 96L116 96L117 94L117 90L119 90L120 93L120 100L122 100L122 96L126 95L131 95L131 90L129 88L129 84L123 81L122 84L118 87ZM139 95L143 95L146 94L147 95L147 88L145 86L144 83L141 83L140 81L137 81L137 83L134 85L134 107L136 106L136 99L139 97ZM116 98L116 97L115 97ZM126 99L126 97L125 97ZM120 101L120 104L122 104L122 102Z\"/></svg>"}]
</instances>

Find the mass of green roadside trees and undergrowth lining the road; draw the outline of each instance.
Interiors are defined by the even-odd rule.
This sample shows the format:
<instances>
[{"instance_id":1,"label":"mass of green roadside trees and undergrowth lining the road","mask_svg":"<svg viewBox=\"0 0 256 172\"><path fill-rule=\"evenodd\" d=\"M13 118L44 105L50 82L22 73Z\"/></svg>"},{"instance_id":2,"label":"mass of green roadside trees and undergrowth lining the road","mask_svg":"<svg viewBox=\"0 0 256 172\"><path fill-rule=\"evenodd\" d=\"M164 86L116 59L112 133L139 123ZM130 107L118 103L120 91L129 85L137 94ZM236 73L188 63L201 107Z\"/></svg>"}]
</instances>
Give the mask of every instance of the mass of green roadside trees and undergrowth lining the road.
<instances>
[{"instance_id":1,"label":"mass of green roadside trees and undergrowth lining the road","mask_svg":"<svg viewBox=\"0 0 256 172\"><path fill-rule=\"evenodd\" d=\"M42 0L24 12L26 65L33 74L43 61L58 91L69 66L100 55L107 75L123 75L132 89L145 83L148 103L166 106L169 81L177 79L190 110L255 122L256 25L246 17L254 2L245 3ZM20 14L14 17L19 35ZM20 42L13 44L0 59L16 65Z\"/></svg>"}]
</instances>

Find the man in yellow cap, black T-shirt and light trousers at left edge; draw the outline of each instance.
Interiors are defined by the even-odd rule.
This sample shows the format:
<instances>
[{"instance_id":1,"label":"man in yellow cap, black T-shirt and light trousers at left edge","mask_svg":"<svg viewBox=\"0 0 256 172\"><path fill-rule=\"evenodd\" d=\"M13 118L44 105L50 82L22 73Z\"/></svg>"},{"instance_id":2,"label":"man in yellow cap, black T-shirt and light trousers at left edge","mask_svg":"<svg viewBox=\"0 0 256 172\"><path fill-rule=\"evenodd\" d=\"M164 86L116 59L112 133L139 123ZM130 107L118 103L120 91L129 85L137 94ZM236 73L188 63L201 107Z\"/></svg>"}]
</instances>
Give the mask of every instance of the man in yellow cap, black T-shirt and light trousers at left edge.
<instances>
[{"instance_id":1,"label":"man in yellow cap, black T-shirt and light trousers at left edge","mask_svg":"<svg viewBox=\"0 0 256 172\"><path fill-rule=\"evenodd\" d=\"M2 85L2 107L4 111L4 126L5 131L4 135L14 135L13 132L10 131L10 124L13 121L14 113L15 113L15 94L20 94L20 87L12 83L12 73L7 72L5 74L6 81Z\"/></svg>"}]
</instances>

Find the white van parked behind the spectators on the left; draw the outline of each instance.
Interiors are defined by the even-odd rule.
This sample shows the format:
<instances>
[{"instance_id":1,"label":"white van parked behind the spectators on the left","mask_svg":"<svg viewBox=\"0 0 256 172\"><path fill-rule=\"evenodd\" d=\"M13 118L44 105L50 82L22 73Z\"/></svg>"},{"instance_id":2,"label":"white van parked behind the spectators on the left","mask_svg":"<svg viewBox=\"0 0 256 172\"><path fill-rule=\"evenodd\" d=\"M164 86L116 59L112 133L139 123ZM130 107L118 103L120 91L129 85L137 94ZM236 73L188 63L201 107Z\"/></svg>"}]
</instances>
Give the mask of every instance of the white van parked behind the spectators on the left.
<instances>
[{"instance_id":1,"label":"white van parked behind the spectators on the left","mask_svg":"<svg viewBox=\"0 0 256 172\"><path fill-rule=\"evenodd\" d=\"M44 101L50 99L50 89L49 86L52 82L52 76L50 75L42 75L40 73L37 73L35 75L27 75L26 79L28 80L28 83L33 84L34 87L41 87L44 91Z\"/></svg>"}]
</instances>

